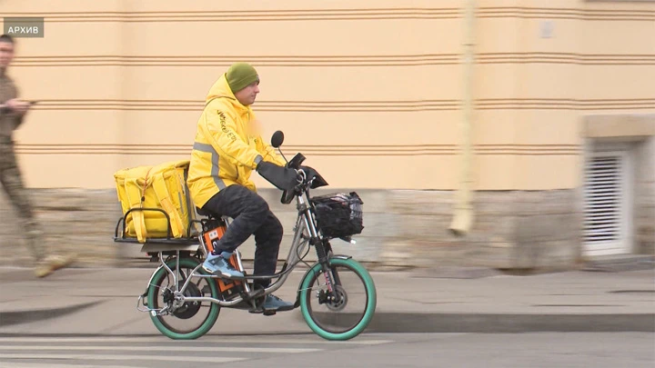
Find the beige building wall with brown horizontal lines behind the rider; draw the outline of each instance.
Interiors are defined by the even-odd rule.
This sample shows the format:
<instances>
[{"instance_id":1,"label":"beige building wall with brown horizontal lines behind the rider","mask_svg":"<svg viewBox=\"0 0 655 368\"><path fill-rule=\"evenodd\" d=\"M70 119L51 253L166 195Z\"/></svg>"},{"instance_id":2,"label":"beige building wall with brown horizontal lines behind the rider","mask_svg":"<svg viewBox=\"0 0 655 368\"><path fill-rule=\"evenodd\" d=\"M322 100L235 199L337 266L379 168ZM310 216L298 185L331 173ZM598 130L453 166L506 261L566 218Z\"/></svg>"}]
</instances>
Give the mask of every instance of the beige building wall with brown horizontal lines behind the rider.
<instances>
[{"instance_id":1,"label":"beige building wall with brown horizontal lines behind the rider","mask_svg":"<svg viewBox=\"0 0 655 368\"><path fill-rule=\"evenodd\" d=\"M534 244L521 211L579 215L585 119L655 114L655 3L474 3L473 189L554 192L480 192L473 244ZM285 154L303 152L333 187L458 189L465 4L5 0L4 16L45 17L45 37L18 39L10 70L39 101L15 136L26 184L111 190L119 169L186 158L208 88L247 61L262 78L254 109L267 134L283 130ZM452 195L429 198L443 204L443 232ZM493 207L512 198L511 214ZM499 219L503 233L490 234ZM540 218L540 232L570 222ZM579 256L576 231L546 241L567 250L559 259Z\"/></svg>"}]
</instances>

